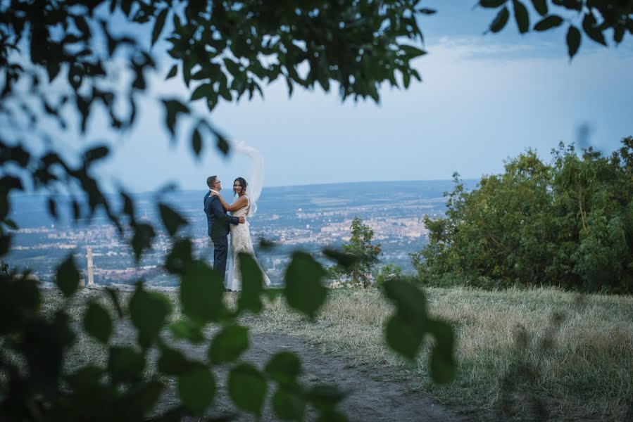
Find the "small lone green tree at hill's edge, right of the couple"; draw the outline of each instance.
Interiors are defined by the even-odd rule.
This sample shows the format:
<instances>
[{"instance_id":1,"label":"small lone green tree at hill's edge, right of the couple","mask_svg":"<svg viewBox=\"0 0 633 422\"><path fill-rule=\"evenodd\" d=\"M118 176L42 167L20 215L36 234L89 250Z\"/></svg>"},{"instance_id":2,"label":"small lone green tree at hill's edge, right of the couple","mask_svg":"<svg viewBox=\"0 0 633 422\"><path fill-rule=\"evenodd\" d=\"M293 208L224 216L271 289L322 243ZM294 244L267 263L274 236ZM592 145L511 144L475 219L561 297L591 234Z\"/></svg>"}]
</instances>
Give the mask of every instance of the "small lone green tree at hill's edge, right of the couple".
<instances>
[{"instance_id":1,"label":"small lone green tree at hill's edge, right of the couple","mask_svg":"<svg viewBox=\"0 0 633 422\"><path fill-rule=\"evenodd\" d=\"M344 253L356 258L353 263L338 265L334 270L339 276L349 277L353 284L361 284L364 288L371 285L372 272L380 260L380 245L372 245L374 231L370 226L363 224L363 220L354 217L349 227L351 236L349 241L341 246Z\"/></svg>"}]
</instances>

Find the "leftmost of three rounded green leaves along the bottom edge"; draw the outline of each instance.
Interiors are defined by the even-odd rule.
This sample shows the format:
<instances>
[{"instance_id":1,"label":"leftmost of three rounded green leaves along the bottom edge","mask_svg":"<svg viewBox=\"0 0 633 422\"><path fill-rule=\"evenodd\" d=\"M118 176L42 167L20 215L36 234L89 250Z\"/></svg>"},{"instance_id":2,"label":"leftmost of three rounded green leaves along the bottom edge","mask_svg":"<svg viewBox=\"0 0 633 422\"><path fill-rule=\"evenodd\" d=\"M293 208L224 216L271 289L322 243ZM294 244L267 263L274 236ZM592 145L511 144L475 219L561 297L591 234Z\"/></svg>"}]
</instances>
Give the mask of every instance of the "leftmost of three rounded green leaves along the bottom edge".
<instances>
[{"instance_id":1,"label":"leftmost of three rounded green leaves along the bottom edge","mask_svg":"<svg viewBox=\"0 0 633 422\"><path fill-rule=\"evenodd\" d=\"M211 370L202 365L178 377L178 395L185 407L202 414L215 397L215 378Z\"/></svg>"}]
</instances>

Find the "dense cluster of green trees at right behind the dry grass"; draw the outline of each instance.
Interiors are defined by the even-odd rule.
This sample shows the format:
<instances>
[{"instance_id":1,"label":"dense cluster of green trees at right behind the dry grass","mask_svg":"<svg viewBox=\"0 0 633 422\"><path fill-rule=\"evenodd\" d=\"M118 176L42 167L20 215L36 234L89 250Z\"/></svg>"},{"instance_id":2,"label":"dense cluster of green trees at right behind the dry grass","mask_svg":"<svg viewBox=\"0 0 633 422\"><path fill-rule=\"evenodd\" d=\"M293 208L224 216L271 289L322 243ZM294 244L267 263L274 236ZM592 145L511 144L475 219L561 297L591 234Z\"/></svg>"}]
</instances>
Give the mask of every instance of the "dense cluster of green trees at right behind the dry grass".
<instances>
[{"instance_id":1,"label":"dense cluster of green trees at right behind the dry grass","mask_svg":"<svg viewBox=\"0 0 633 422\"><path fill-rule=\"evenodd\" d=\"M453 177L413 255L422 283L633 293L633 137L608 156L560 143L551 164L529 150L472 191Z\"/></svg>"}]
</instances>

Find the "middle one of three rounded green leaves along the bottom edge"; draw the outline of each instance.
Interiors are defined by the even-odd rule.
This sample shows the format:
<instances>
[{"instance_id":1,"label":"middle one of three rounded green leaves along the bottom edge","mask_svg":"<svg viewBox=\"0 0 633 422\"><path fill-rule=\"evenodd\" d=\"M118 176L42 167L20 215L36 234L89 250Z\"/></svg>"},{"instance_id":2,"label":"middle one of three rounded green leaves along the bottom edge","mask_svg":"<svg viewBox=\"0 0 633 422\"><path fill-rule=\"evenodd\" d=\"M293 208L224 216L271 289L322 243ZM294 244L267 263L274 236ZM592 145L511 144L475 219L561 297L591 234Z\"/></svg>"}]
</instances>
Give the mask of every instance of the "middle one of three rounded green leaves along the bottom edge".
<instances>
[{"instance_id":1,"label":"middle one of three rounded green leaves along the bottom edge","mask_svg":"<svg viewBox=\"0 0 633 422\"><path fill-rule=\"evenodd\" d=\"M265 378L251 364L234 366L229 373L229 397L239 409L256 416L261 416L266 388Z\"/></svg>"}]
</instances>

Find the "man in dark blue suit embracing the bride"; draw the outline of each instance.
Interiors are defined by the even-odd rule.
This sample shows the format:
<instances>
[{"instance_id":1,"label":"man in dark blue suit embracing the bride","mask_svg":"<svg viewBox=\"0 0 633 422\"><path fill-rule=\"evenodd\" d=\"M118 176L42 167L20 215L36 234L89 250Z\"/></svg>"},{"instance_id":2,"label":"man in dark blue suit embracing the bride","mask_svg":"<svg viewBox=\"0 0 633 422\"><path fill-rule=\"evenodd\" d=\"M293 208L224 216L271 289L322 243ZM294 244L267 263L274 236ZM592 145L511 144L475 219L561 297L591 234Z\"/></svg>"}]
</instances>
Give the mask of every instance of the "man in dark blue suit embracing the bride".
<instances>
[{"instance_id":1,"label":"man in dark blue suit embracing the bride","mask_svg":"<svg viewBox=\"0 0 633 422\"><path fill-rule=\"evenodd\" d=\"M204 196L204 213L206 214L206 223L208 225L208 234L213 241L213 269L218 271L220 279L224 282L225 272L227 268L227 253L229 243L227 235L229 234L229 224L244 223L244 217L232 217L227 215L226 210L220 203L218 196L211 195L211 192L220 192L222 186L217 176L210 176L206 179L206 184L211 191Z\"/></svg>"}]
</instances>

